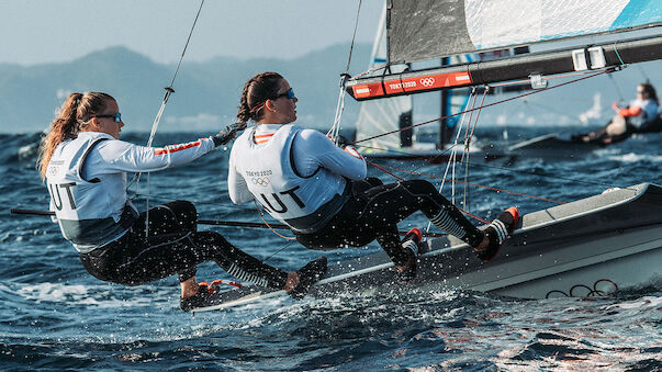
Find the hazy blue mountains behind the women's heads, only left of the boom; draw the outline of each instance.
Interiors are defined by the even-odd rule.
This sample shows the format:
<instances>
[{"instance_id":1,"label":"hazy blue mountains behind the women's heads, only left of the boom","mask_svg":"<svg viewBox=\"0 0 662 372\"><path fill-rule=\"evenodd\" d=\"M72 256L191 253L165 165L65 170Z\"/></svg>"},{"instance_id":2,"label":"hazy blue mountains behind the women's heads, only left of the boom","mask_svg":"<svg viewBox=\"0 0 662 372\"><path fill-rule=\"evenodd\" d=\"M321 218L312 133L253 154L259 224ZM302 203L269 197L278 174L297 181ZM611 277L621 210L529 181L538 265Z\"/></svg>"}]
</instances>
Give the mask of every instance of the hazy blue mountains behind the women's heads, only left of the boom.
<instances>
[{"instance_id":1,"label":"hazy blue mountains behind the women's heads, only left of the boom","mask_svg":"<svg viewBox=\"0 0 662 372\"><path fill-rule=\"evenodd\" d=\"M364 69L370 45L356 45L352 66ZM206 63L184 58L159 131L213 131L233 122L246 80L277 71L293 87L302 124L328 127L338 97L339 74L349 45L330 46L300 58L237 59ZM103 91L115 97L126 131L149 131L176 65L157 64L123 46L98 50L66 64L23 67L0 65L0 132L43 131L55 110L74 91ZM348 102L347 117L358 104Z\"/></svg>"}]
</instances>

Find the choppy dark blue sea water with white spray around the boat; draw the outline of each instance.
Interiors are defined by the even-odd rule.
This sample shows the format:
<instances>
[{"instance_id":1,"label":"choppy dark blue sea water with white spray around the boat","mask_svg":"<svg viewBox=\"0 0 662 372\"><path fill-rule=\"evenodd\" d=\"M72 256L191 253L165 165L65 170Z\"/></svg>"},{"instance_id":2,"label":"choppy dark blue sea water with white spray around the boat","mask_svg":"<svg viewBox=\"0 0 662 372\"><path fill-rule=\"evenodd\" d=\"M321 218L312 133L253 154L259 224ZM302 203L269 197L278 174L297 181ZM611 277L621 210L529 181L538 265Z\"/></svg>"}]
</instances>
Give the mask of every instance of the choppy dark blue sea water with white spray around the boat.
<instances>
[{"instance_id":1,"label":"choppy dark blue sea water with white spray around the boat","mask_svg":"<svg viewBox=\"0 0 662 372\"><path fill-rule=\"evenodd\" d=\"M502 131L487 128L479 136L505 145ZM513 128L508 138L531 138L549 131L558 128ZM200 135L205 134L159 134L156 143L187 142ZM659 281L609 297L540 301L444 289L429 292L403 284L399 293L388 295L279 298L191 316L179 309L176 277L134 288L99 281L85 271L48 217L11 215L11 207L47 208L48 194L34 168L40 135L0 138L4 144L0 149L0 370L662 369ZM144 144L146 134L128 134L125 139ZM638 136L570 161L518 158L485 164L470 158L468 180L565 202L613 187L660 184L661 140L662 134ZM228 149L220 148L191 165L149 179L143 176L138 192L152 195L150 205L193 201L205 219L260 222L253 205L231 203L227 157ZM445 170L444 165L425 162L386 165L439 177ZM464 180L461 169L456 171ZM374 169L370 173L392 181ZM449 187L444 189L447 198L451 198ZM554 205L462 184L456 185L456 203L487 218L510 205L523 213ZM145 207L144 198L138 205ZM416 214L400 226L425 225L425 217ZM247 252L288 270L319 255L268 229L200 228L216 230ZM375 251L379 247L372 244L325 255L336 262ZM662 267L662 262L651 264ZM204 263L198 278L228 277Z\"/></svg>"}]
</instances>

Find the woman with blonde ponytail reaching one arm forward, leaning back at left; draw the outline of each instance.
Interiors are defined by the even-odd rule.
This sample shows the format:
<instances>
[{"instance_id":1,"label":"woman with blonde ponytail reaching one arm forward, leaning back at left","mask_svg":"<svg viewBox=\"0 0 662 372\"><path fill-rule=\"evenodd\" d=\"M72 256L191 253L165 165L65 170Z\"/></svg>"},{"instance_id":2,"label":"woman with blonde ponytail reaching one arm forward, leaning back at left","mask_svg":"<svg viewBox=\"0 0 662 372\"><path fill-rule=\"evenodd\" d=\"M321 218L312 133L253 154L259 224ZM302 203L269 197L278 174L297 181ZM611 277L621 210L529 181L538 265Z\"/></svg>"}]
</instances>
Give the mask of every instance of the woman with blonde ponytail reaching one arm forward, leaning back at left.
<instances>
[{"instance_id":1,"label":"woman with blonde ponytail reaching one arm forward, leaning back at left","mask_svg":"<svg viewBox=\"0 0 662 372\"><path fill-rule=\"evenodd\" d=\"M101 92L72 93L51 124L37 169L51 194L51 211L63 236L96 278L139 285L178 274L180 307L209 306L215 286L198 283L197 266L215 261L258 285L302 296L313 275L304 267L284 272L240 251L220 234L197 230L193 204L176 201L138 214L126 196L126 172L150 172L192 161L235 137L240 125L188 144L145 147L120 140L124 127L117 102Z\"/></svg>"}]
</instances>

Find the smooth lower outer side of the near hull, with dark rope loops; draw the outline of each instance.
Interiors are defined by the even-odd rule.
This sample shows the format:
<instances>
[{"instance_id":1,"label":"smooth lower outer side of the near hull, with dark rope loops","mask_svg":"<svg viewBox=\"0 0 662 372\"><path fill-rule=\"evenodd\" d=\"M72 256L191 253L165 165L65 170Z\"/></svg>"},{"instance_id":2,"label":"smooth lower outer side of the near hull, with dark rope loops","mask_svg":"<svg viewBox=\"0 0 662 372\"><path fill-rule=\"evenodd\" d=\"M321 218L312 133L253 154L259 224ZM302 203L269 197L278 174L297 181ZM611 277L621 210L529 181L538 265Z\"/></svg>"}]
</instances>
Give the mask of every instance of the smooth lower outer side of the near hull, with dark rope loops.
<instances>
[{"instance_id":1,"label":"smooth lower outer side of the near hull, with dark rope loops","mask_svg":"<svg viewBox=\"0 0 662 372\"><path fill-rule=\"evenodd\" d=\"M662 229L647 228L487 263L440 284L520 298L607 295L655 282L662 263L660 247Z\"/></svg>"}]
</instances>

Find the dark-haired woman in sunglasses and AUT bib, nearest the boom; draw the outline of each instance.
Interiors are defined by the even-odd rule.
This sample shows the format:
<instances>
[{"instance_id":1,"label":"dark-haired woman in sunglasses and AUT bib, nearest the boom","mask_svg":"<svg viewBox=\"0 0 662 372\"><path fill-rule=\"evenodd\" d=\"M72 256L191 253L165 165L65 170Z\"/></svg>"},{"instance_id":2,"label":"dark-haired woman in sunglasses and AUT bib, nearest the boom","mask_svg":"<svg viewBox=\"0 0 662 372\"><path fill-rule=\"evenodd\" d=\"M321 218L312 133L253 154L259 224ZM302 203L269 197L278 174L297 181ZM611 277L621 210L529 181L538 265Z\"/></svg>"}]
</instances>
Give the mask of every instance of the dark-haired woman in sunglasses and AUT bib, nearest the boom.
<instances>
[{"instance_id":1,"label":"dark-haired woman in sunglasses and AUT bib, nearest the boom","mask_svg":"<svg viewBox=\"0 0 662 372\"><path fill-rule=\"evenodd\" d=\"M377 239L408 282L416 277L422 234L412 229L401 241L397 223L414 212L468 243L484 261L496 256L515 228L515 207L481 230L427 181L382 184L366 178L366 161L355 148L340 149L324 134L291 124L298 101L277 72L246 82L237 119L257 125L233 145L228 191L237 204L259 202L305 247L360 247Z\"/></svg>"}]
</instances>

